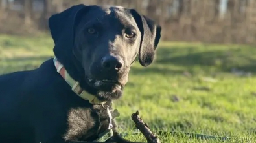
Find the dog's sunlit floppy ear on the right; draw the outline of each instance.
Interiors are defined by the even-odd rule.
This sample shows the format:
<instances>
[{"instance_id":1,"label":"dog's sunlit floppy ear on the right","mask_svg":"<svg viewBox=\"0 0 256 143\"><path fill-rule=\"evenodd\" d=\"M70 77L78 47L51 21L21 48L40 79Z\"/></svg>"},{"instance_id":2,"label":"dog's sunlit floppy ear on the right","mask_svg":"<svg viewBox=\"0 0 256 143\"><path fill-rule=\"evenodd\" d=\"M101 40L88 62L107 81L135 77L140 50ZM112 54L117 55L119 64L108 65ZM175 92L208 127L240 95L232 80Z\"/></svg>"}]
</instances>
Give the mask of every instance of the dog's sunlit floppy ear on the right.
<instances>
[{"instance_id":1,"label":"dog's sunlit floppy ear on the right","mask_svg":"<svg viewBox=\"0 0 256 143\"><path fill-rule=\"evenodd\" d=\"M136 10L130 10L141 32L141 45L139 48L139 63L142 66L150 65L155 56L155 50L161 38L161 26L152 19L140 15Z\"/></svg>"}]
</instances>

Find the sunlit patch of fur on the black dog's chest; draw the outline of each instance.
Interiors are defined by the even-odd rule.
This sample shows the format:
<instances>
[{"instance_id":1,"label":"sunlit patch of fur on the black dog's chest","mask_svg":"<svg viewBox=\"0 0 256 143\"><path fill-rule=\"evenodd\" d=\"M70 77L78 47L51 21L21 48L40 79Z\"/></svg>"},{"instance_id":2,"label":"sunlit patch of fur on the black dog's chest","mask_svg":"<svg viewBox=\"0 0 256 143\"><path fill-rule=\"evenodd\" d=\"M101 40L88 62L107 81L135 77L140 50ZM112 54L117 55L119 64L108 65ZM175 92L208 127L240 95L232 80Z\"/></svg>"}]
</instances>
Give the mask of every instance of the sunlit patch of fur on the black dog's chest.
<instances>
[{"instance_id":1,"label":"sunlit patch of fur on the black dog's chest","mask_svg":"<svg viewBox=\"0 0 256 143\"><path fill-rule=\"evenodd\" d=\"M93 141L108 129L108 113L104 108L76 108L69 111L64 139Z\"/></svg>"}]
</instances>

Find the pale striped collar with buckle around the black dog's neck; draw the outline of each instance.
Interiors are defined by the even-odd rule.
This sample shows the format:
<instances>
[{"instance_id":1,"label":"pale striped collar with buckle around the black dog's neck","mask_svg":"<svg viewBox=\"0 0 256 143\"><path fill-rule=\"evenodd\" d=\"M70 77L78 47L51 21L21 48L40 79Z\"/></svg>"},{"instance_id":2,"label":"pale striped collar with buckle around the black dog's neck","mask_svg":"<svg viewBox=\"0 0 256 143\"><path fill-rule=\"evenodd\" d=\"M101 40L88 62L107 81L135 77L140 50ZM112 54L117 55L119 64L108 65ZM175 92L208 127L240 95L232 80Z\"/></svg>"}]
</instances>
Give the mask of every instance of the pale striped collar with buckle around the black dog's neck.
<instances>
[{"instance_id":1,"label":"pale striped collar with buckle around the black dog's neck","mask_svg":"<svg viewBox=\"0 0 256 143\"><path fill-rule=\"evenodd\" d=\"M75 81L69 73L67 73L67 70L65 70L65 67L58 61L56 57L53 59L54 65L57 69L57 72L62 75L62 77L65 79L65 81L69 84L69 86L72 87L72 90L78 95L79 97L82 97L84 100L88 100L91 104L102 104L104 105L106 101L101 101L94 95L91 95L87 93L85 90L83 90L80 87L79 82Z\"/></svg>"}]
</instances>

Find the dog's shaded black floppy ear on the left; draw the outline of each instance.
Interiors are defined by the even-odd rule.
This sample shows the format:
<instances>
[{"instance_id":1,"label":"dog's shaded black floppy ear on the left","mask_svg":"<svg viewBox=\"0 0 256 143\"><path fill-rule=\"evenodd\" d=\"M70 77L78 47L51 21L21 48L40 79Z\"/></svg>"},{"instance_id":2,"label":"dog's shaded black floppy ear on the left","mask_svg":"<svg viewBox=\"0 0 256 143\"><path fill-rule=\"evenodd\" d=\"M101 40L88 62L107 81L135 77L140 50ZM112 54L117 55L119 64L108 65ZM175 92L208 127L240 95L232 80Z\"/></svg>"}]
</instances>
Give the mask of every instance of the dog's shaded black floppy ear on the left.
<instances>
[{"instance_id":1,"label":"dog's shaded black floppy ear on the left","mask_svg":"<svg viewBox=\"0 0 256 143\"><path fill-rule=\"evenodd\" d=\"M83 4L75 5L49 18L49 28L55 44L54 55L64 65L73 56L76 24L80 15L85 14L88 9L89 6Z\"/></svg>"}]
</instances>

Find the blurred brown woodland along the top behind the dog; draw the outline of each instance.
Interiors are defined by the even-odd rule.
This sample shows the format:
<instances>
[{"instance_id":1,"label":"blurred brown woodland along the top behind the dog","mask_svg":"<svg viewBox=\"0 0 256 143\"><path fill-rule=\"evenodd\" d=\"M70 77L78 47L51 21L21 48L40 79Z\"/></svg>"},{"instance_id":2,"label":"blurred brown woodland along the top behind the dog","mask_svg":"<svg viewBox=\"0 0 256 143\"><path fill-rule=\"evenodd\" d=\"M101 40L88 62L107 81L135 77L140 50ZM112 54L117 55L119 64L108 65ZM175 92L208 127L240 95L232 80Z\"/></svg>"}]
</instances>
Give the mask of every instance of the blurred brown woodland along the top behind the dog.
<instances>
[{"instance_id":1,"label":"blurred brown woodland along the top behind the dog","mask_svg":"<svg viewBox=\"0 0 256 143\"><path fill-rule=\"evenodd\" d=\"M0 0L0 32L48 30L49 16L78 3L135 8L163 26L163 40L256 43L254 0Z\"/></svg>"}]
</instances>

